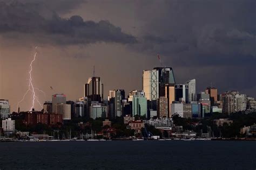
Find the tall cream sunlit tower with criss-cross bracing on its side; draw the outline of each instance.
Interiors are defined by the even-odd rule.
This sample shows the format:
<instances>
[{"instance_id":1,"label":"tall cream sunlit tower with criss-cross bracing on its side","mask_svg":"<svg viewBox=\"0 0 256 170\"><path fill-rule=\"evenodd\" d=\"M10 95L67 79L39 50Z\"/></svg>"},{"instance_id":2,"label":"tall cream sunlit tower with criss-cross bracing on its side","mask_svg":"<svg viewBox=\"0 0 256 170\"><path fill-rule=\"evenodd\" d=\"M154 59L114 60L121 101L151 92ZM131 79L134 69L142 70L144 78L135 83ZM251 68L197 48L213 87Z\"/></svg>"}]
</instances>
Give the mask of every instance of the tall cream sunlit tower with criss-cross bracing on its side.
<instances>
[{"instance_id":1,"label":"tall cream sunlit tower with criss-cross bracing on its side","mask_svg":"<svg viewBox=\"0 0 256 170\"><path fill-rule=\"evenodd\" d=\"M142 84L145 97L150 101L149 109L157 109L157 99L159 98L159 73L157 69L143 70Z\"/></svg>"}]
</instances>

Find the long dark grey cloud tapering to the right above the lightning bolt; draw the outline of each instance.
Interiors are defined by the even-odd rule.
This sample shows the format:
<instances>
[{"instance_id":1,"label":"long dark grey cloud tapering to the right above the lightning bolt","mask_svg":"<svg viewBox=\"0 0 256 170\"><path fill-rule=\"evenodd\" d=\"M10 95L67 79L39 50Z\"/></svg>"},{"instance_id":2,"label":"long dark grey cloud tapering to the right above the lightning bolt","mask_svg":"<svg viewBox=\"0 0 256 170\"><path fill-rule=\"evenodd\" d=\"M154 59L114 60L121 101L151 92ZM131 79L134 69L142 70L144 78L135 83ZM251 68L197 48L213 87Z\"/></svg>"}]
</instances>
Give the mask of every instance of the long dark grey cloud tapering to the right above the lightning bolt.
<instances>
[{"instance_id":1,"label":"long dark grey cloud tapering to the right above the lightning bolt","mask_svg":"<svg viewBox=\"0 0 256 170\"><path fill-rule=\"evenodd\" d=\"M83 1L54 1L60 6L79 4ZM8 38L27 37L34 42L53 43L58 45L89 44L94 42L117 42L130 44L136 38L122 32L120 27L112 25L106 20L98 23L84 21L80 16L62 18L56 11L48 10L51 17L45 17L37 9L45 9L41 5L53 5L44 1L16 1L12 3L0 2L0 34ZM70 8L73 6L71 5ZM68 9L68 8L66 8ZM39 10L39 11L40 11ZM51 11L51 12L50 12ZM48 15L49 15L48 13ZM18 36L17 36L18 34Z\"/></svg>"}]
</instances>

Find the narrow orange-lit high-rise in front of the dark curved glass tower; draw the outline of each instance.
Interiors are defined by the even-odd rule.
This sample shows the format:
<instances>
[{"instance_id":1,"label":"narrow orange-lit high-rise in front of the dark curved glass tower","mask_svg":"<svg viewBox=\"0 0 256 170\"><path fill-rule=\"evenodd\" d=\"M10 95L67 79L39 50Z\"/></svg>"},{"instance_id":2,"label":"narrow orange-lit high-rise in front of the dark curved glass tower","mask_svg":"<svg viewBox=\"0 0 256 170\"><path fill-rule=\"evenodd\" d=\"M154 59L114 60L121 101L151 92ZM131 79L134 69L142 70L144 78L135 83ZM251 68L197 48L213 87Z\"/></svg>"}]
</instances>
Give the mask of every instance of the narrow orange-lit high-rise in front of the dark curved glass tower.
<instances>
[{"instance_id":1,"label":"narrow orange-lit high-rise in front of the dark curved glass tower","mask_svg":"<svg viewBox=\"0 0 256 170\"><path fill-rule=\"evenodd\" d=\"M165 84L165 98L168 103L168 116L171 117L171 104L175 101L175 86L174 84Z\"/></svg>"}]
</instances>

